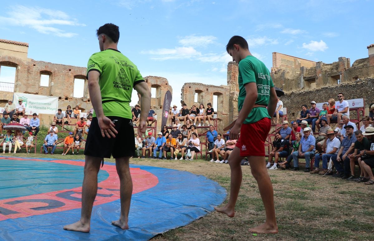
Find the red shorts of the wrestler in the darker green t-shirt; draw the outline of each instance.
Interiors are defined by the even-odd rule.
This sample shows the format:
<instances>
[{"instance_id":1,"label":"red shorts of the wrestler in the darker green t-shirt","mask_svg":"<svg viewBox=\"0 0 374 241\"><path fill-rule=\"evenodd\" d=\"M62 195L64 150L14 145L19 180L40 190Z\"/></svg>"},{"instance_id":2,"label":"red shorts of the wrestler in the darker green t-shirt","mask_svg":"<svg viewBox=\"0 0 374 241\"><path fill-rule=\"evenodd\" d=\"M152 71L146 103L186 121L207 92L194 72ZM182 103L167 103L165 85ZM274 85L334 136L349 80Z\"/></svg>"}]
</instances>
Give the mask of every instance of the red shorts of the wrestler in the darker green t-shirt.
<instances>
[{"instance_id":1,"label":"red shorts of the wrestler in the darker green t-shirt","mask_svg":"<svg viewBox=\"0 0 374 241\"><path fill-rule=\"evenodd\" d=\"M236 147L240 156L265 156L265 140L270 131L270 119L263 118L255 123L243 124Z\"/></svg>"}]
</instances>

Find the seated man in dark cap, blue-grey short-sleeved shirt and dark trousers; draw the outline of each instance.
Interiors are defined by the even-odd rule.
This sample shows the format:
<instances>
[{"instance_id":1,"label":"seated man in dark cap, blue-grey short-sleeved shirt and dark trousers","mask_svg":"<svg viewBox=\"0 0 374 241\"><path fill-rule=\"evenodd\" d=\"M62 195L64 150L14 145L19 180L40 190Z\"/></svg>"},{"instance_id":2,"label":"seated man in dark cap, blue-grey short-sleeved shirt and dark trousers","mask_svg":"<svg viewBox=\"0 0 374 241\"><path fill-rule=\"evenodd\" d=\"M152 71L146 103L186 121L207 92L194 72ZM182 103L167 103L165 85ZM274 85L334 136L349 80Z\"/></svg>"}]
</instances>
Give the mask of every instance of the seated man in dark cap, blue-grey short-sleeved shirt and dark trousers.
<instances>
[{"instance_id":1,"label":"seated man in dark cap, blue-grey short-sleeved shirt and dark trousers","mask_svg":"<svg viewBox=\"0 0 374 241\"><path fill-rule=\"evenodd\" d=\"M334 167L337 170L337 173L332 176L347 179L350 176L350 161L348 155L353 153L357 139L356 136L353 135L352 125L344 126L344 128L346 131L346 137L344 137L341 142L338 155L336 158L331 157L331 160L334 162Z\"/></svg>"}]
</instances>

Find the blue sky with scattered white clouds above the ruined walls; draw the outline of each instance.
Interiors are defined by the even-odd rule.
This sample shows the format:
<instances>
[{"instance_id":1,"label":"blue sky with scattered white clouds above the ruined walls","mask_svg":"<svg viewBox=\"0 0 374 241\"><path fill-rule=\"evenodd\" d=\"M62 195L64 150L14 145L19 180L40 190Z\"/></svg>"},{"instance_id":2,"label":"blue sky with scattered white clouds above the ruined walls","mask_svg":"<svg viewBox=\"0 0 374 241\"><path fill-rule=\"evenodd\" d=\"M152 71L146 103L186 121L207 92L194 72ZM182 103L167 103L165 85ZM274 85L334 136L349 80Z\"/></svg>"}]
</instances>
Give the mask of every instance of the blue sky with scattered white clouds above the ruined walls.
<instances>
[{"instance_id":1,"label":"blue sky with scattered white clouds above the ruined walls","mask_svg":"<svg viewBox=\"0 0 374 241\"><path fill-rule=\"evenodd\" d=\"M1 1L0 38L29 43L34 60L85 67L99 51L96 29L120 27L119 50L143 76L161 76L180 106L186 82L227 84L233 35L270 69L272 52L331 63L368 57L373 1ZM3 74L4 75L4 74ZM73 86L72 86L73 88ZM137 97L133 95L134 100Z\"/></svg>"}]
</instances>

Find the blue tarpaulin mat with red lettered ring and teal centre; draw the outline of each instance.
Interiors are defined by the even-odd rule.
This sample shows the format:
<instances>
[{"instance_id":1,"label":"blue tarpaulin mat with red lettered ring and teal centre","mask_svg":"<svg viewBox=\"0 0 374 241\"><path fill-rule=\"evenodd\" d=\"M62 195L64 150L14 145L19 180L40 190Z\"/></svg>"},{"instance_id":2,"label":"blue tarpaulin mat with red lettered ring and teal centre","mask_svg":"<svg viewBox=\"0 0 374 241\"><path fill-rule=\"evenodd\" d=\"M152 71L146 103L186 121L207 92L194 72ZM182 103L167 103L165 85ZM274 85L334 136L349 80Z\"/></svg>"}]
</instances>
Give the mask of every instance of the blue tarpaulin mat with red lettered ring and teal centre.
<instances>
[{"instance_id":1,"label":"blue tarpaulin mat with red lettered ring and teal centre","mask_svg":"<svg viewBox=\"0 0 374 241\"><path fill-rule=\"evenodd\" d=\"M148 240L214 211L226 190L204 176L130 165L129 229L111 225L120 214L114 163L98 174L91 232L63 230L80 218L82 160L0 157L0 240Z\"/></svg>"}]
</instances>

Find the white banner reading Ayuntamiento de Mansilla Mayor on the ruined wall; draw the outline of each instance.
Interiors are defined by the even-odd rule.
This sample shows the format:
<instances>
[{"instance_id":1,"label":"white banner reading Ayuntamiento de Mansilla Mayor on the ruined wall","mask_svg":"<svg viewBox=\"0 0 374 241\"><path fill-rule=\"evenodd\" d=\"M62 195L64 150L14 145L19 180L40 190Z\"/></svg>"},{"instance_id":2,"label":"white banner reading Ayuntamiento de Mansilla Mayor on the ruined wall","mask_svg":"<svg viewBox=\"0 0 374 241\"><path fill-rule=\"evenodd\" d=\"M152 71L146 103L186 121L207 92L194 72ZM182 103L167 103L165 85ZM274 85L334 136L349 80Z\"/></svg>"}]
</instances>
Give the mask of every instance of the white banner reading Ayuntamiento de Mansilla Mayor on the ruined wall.
<instances>
[{"instance_id":1,"label":"white banner reading Ayuntamiento de Mansilla Mayor on the ruined wall","mask_svg":"<svg viewBox=\"0 0 374 241\"><path fill-rule=\"evenodd\" d=\"M26 113L33 115L33 113L55 115L58 109L58 97L45 95L32 95L14 92L13 103L18 104L18 100L23 100L26 106Z\"/></svg>"}]
</instances>

